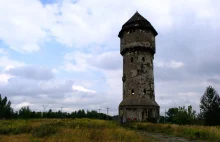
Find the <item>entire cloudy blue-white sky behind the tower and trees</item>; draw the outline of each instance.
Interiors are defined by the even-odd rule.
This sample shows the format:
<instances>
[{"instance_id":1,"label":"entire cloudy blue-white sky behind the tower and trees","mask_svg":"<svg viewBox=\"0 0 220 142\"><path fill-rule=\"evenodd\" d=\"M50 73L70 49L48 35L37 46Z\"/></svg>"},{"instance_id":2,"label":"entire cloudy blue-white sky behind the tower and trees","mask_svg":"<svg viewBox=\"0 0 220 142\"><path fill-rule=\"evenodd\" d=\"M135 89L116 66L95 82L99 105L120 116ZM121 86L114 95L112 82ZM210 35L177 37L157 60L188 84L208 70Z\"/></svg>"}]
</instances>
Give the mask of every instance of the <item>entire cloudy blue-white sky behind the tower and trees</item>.
<instances>
[{"instance_id":1,"label":"entire cloudy blue-white sky behind the tower and trees","mask_svg":"<svg viewBox=\"0 0 220 142\"><path fill-rule=\"evenodd\" d=\"M218 0L0 0L0 94L14 110L117 114L118 33L138 11L157 30L155 96L161 114L220 91Z\"/></svg>"}]
</instances>

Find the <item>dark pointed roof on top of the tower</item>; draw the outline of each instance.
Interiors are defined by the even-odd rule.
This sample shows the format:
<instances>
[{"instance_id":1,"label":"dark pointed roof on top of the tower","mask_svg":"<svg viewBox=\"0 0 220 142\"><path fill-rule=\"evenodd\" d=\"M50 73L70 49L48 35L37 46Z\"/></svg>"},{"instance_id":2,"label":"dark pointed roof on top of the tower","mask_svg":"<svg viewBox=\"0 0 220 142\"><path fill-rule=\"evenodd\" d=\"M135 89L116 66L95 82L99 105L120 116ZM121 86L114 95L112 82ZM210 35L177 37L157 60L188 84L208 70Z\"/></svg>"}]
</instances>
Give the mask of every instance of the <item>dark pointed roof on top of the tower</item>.
<instances>
[{"instance_id":1,"label":"dark pointed roof on top of the tower","mask_svg":"<svg viewBox=\"0 0 220 142\"><path fill-rule=\"evenodd\" d=\"M138 12L136 12L123 26L121 31L118 34L118 37L122 36L122 33L126 29L139 27L142 29L150 29L154 33L154 36L156 36L158 33L154 29L154 27L151 25L151 23L145 19L142 15L140 15Z\"/></svg>"}]
</instances>

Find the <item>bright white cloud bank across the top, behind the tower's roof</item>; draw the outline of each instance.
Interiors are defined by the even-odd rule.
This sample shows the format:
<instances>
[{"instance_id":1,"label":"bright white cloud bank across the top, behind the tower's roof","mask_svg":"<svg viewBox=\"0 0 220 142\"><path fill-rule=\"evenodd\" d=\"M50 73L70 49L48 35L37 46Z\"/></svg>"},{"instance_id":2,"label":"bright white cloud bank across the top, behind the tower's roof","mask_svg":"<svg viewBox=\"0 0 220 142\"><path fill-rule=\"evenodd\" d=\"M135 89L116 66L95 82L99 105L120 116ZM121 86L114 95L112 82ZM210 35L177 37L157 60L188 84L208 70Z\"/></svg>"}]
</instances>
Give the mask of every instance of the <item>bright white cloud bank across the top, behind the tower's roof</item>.
<instances>
[{"instance_id":1,"label":"bright white cloud bank across the top, behind the tower's roof","mask_svg":"<svg viewBox=\"0 0 220 142\"><path fill-rule=\"evenodd\" d=\"M76 3L65 0L47 5L38 0L7 0L1 3L0 26L4 28L1 28L0 39L19 52L38 51L40 45L52 37L69 47L85 47L93 43L112 44L109 39L117 38L121 25L136 10L162 32L172 28L174 14L184 11L184 8L193 11L197 17L206 17L206 20L217 16L214 4L207 0L80 0ZM180 5L185 7L173 13L173 9Z\"/></svg>"}]
</instances>

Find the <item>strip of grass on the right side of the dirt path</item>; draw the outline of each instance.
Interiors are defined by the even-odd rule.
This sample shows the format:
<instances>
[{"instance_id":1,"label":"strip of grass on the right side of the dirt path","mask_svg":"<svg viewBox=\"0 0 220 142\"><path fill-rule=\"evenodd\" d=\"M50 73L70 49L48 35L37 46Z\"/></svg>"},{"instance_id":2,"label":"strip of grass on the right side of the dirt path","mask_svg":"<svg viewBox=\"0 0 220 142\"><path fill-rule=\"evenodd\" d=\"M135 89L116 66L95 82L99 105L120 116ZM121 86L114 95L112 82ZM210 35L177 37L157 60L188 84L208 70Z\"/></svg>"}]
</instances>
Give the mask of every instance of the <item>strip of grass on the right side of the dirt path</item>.
<instances>
[{"instance_id":1,"label":"strip of grass on the right side of the dirt path","mask_svg":"<svg viewBox=\"0 0 220 142\"><path fill-rule=\"evenodd\" d=\"M184 137L191 140L207 140L220 142L220 126L175 125L153 123L130 123L127 127L151 133Z\"/></svg>"}]
</instances>

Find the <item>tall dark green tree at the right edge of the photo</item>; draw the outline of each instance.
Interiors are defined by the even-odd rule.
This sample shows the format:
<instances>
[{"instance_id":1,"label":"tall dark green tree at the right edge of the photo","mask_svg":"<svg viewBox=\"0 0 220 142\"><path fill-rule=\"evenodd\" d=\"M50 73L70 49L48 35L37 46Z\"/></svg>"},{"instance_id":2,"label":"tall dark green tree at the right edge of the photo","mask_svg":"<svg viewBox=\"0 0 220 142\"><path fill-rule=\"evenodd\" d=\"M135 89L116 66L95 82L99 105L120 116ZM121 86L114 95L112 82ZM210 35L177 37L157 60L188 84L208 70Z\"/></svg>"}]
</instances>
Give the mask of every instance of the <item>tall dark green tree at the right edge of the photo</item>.
<instances>
[{"instance_id":1,"label":"tall dark green tree at the right edge of the photo","mask_svg":"<svg viewBox=\"0 0 220 142\"><path fill-rule=\"evenodd\" d=\"M218 92L209 86L200 100L200 118L205 125L220 125L220 97Z\"/></svg>"}]
</instances>

